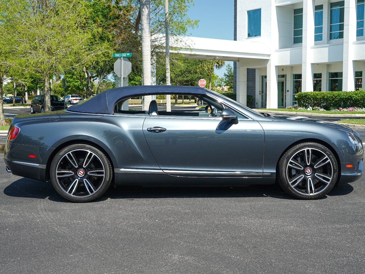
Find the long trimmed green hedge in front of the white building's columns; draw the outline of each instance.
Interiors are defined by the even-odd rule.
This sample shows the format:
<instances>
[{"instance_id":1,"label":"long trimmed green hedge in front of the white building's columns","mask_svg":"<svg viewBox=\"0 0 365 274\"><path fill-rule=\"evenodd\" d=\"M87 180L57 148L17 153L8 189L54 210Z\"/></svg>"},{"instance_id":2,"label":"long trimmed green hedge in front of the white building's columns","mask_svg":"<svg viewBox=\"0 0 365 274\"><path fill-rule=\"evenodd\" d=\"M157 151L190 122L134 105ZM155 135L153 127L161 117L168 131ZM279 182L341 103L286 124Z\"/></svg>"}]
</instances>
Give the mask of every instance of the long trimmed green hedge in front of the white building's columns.
<instances>
[{"instance_id":1,"label":"long trimmed green hedge in front of the white building's columns","mask_svg":"<svg viewBox=\"0 0 365 274\"><path fill-rule=\"evenodd\" d=\"M295 95L300 107L322 107L325 110L340 107L365 107L365 91L314 91Z\"/></svg>"}]
</instances>

